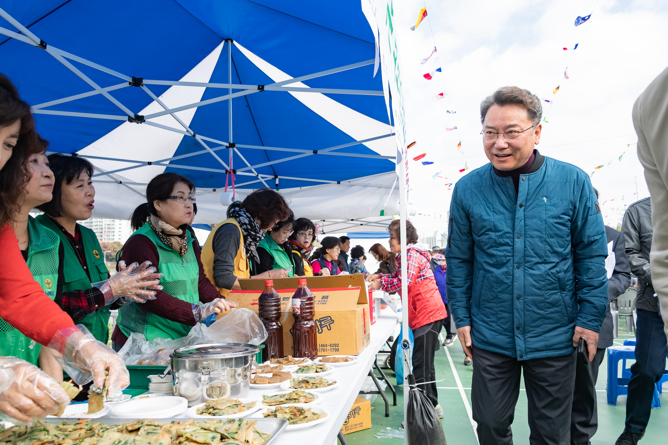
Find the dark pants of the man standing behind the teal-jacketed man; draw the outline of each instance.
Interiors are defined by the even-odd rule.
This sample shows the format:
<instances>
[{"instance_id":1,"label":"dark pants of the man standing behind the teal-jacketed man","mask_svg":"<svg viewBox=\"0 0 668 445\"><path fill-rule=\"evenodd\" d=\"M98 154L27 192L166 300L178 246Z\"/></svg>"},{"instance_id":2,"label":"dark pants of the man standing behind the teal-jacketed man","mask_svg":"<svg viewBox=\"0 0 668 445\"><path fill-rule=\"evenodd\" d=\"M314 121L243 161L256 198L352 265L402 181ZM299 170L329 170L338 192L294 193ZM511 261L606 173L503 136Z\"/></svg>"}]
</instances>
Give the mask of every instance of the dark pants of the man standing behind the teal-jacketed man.
<instances>
[{"instance_id":1,"label":"dark pants of the man standing behind the teal-jacketed man","mask_svg":"<svg viewBox=\"0 0 668 445\"><path fill-rule=\"evenodd\" d=\"M587 366L576 360L575 390L570 411L570 444L591 445L591 438L599 427L596 402L596 381L599 367L605 358L605 348L597 348L594 360Z\"/></svg>"}]
</instances>

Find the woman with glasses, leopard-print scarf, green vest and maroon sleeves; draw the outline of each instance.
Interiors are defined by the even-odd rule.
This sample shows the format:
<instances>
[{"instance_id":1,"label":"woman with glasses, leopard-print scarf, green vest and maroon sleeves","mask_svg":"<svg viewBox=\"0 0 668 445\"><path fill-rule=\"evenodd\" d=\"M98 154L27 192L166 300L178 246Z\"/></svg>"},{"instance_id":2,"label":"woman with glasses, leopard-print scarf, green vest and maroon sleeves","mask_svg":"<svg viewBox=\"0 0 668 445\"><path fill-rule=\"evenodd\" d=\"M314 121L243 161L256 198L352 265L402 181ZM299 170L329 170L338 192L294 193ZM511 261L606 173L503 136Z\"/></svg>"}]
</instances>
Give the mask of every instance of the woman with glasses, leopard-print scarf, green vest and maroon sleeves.
<instances>
[{"instance_id":1,"label":"woman with glasses, leopard-print scarf, green vest and maroon sleeves","mask_svg":"<svg viewBox=\"0 0 668 445\"><path fill-rule=\"evenodd\" d=\"M118 310L112 347L118 351L133 332L146 340L188 335L192 326L208 316L236 307L221 299L220 292L204 275L201 251L188 232L192 219L195 185L176 173L157 175L146 186L148 202L132 213L136 230L123 247L120 259L150 260L163 274L163 289L156 300L129 303Z\"/></svg>"}]
</instances>

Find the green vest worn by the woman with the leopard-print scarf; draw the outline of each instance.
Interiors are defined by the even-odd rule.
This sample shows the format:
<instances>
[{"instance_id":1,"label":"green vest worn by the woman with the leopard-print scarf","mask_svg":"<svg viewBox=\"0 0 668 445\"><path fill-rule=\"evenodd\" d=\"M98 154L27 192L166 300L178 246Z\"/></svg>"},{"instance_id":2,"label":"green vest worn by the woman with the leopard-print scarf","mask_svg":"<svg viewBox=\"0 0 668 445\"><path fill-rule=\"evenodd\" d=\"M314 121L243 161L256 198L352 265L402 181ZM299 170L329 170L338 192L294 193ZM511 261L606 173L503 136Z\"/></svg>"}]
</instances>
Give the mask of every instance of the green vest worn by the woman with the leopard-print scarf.
<instances>
[{"instance_id":1,"label":"green vest worn by the woman with the leopard-print scarf","mask_svg":"<svg viewBox=\"0 0 668 445\"><path fill-rule=\"evenodd\" d=\"M153 232L150 224L146 223L134 235L145 235L158 248L158 270L164 274L160 278L162 290L172 297L191 304L198 304L200 295L198 282L200 268L197 258L192 250L192 238L188 233L188 252L183 257L178 252L164 245L160 238ZM130 239L132 239L130 236ZM171 338L172 340L188 335L192 326L172 322L166 318L152 314L142 309L141 303L129 303L118 310L116 319L120 330L130 337L132 332L144 334L146 340L154 338Z\"/></svg>"}]
</instances>

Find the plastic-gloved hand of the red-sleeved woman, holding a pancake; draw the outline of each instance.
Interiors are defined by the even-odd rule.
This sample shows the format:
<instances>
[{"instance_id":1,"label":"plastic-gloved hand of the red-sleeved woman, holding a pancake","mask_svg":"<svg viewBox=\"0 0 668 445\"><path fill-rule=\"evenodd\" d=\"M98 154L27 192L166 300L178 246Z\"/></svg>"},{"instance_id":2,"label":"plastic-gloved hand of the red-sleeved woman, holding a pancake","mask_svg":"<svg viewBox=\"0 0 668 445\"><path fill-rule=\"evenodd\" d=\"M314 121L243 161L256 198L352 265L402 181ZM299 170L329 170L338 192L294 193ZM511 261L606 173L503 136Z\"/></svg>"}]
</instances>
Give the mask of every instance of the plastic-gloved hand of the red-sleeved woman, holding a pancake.
<instances>
[{"instance_id":1,"label":"plastic-gloved hand of the red-sleeved woman, holding a pancake","mask_svg":"<svg viewBox=\"0 0 668 445\"><path fill-rule=\"evenodd\" d=\"M56 332L49 348L75 383L83 385L92 380L92 391L102 391L104 370L109 370L109 400L118 400L130 384L130 373L121 356L95 340L82 324Z\"/></svg>"}]
</instances>

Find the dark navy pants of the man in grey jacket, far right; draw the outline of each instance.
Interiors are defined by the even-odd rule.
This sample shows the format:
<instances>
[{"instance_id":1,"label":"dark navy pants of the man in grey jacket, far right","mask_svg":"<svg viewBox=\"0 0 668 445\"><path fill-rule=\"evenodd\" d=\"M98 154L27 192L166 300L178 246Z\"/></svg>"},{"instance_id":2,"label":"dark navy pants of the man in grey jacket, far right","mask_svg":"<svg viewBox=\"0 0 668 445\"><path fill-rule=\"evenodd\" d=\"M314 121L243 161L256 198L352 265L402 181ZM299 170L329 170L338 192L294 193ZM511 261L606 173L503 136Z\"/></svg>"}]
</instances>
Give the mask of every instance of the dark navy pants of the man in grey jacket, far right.
<instances>
[{"instance_id":1,"label":"dark navy pants of the man in grey jacket, far right","mask_svg":"<svg viewBox=\"0 0 668 445\"><path fill-rule=\"evenodd\" d=\"M637 310L635 363L631 365L625 431L645 432L655 384L666 366L666 334L656 312Z\"/></svg>"}]
</instances>

